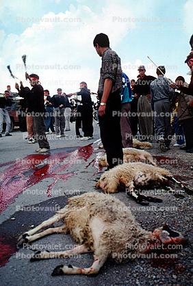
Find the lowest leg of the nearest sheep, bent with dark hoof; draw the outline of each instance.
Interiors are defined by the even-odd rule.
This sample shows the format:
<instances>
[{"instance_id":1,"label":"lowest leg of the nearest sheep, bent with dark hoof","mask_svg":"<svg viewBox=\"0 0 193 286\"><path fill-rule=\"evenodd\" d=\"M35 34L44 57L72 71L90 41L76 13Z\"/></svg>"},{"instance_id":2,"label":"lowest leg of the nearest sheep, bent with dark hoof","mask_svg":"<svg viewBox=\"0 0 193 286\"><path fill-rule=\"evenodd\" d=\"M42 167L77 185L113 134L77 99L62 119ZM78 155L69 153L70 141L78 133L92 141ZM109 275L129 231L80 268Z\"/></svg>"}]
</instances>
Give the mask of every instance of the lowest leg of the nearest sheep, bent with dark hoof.
<instances>
[{"instance_id":1,"label":"lowest leg of the nearest sheep, bent with dark hoof","mask_svg":"<svg viewBox=\"0 0 193 286\"><path fill-rule=\"evenodd\" d=\"M107 256L103 257L94 257L94 262L89 268L78 268L72 265L58 265L52 272L51 276L56 275L64 275L64 274L85 274L92 275L97 274L105 261L107 260Z\"/></svg>"}]
</instances>

